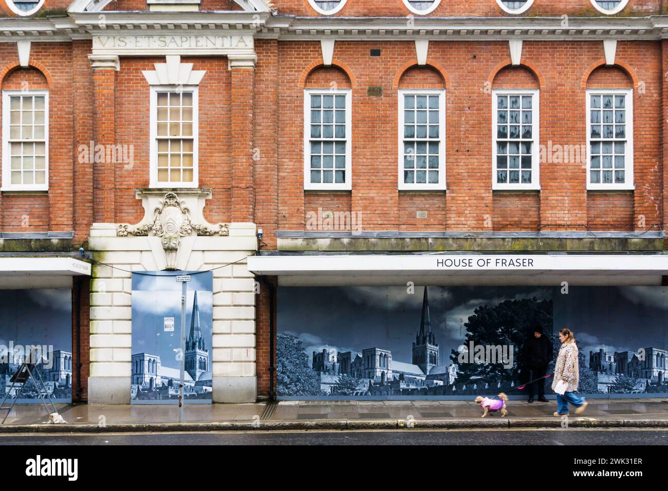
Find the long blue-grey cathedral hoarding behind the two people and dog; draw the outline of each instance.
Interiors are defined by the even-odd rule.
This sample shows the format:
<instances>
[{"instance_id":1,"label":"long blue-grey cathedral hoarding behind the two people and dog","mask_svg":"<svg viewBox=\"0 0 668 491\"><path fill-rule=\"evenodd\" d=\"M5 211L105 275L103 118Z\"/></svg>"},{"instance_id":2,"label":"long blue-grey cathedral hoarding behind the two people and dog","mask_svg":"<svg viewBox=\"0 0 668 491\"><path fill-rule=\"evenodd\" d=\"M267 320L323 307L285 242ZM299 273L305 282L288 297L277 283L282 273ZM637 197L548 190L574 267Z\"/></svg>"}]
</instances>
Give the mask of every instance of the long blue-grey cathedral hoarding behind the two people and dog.
<instances>
[{"instance_id":1,"label":"long blue-grey cathedral hoarding behind the two people and dog","mask_svg":"<svg viewBox=\"0 0 668 491\"><path fill-rule=\"evenodd\" d=\"M667 298L664 287L280 287L277 395L523 399L536 378L526 343L540 331L554 397L549 374L568 328L580 393L665 397Z\"/></svg>"}]
</instances>

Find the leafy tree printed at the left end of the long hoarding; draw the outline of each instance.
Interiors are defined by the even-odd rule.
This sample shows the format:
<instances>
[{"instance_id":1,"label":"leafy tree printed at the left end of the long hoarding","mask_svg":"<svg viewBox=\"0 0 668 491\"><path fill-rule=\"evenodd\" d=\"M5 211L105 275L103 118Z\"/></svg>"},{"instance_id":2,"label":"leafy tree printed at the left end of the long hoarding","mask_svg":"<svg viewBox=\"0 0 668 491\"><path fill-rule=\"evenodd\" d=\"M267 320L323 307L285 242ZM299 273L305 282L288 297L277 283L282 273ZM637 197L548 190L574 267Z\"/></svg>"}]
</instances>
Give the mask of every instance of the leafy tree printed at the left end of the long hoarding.
<instances>
[{"instance_id":1,"label":"leafy tree printed at the left end of the long hoarding","mask_svg":"<svg viewBox=\"0 0 668 491\"><path fill-rule=\"evenodd\" d=\"M294 335L276 337L276 381L279 395L323 395L320 373L309 365L309 355Z\"/></svg>"}]
</instances>

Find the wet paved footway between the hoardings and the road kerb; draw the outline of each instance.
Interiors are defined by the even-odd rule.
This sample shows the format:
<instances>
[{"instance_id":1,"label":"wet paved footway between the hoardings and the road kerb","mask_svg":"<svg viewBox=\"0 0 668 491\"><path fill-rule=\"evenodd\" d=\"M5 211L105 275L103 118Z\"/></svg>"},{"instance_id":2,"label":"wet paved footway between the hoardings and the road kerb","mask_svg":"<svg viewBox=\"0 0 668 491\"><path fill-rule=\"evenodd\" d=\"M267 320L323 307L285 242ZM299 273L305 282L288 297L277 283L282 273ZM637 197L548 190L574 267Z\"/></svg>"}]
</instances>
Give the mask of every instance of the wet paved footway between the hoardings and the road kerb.
<instances>
[{"instance_id":1,"label":"wet paved footway between the hoardings and the road kerb","mask_svg":"<svg viewBox=\"0 0 668 491\"><path fill-rule=\"evenodd\" d=\"M556 411L555 401L546 403L508 401L509 418L546 418ZM170 423L178 422L176 405L60 405L68 424ZM4 414L3 414L4 416ZM17 405L6 424L45 422L41 405ZM474 401L280 401L279 403L193 404L184 408L184 422L303 421L303 420L457 420L479 418ZM666 420L668 400L589 399L582 416L623 420ZM489 418L498 418L498 414Z\"/></svg>"}]
</instances>

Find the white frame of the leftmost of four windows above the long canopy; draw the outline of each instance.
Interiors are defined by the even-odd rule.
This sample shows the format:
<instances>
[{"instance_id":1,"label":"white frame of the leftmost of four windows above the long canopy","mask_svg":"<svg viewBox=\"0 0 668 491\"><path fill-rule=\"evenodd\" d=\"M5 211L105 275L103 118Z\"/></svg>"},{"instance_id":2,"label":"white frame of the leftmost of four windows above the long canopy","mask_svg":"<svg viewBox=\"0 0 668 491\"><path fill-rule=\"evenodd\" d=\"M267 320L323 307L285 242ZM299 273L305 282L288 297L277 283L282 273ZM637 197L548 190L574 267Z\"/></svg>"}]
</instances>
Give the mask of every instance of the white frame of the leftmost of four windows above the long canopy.
<instances>
[{"instance_id":1,"label":"white frame of the leftmost of four windows above the long canopy","mask_svg":"<svg viewBox=\"0 0 668 491\"><path fill-rule=\"evenodd\" d=\"M345 182L312 183L311 182L311 95L345 96ZM353 147L353 107L350 89L305 89L304 90L304 189L351 190L352 180L352 147ZM314 138L323 140L323 138Z\"/></svg>"}]
</instances>

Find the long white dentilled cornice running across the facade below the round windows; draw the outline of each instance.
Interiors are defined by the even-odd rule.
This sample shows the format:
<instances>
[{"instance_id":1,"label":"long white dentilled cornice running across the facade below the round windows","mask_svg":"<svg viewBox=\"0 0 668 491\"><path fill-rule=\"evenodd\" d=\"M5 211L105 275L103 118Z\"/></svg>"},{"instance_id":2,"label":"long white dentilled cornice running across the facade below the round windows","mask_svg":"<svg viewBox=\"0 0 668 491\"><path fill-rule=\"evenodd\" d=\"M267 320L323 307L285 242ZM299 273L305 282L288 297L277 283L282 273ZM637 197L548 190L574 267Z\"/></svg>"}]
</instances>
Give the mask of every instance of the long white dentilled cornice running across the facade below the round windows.
<instances>
[{"instance_id":1,"label":"long white dentilled cornice running across the facade below the round windows","mask_svg":"<svg viewBox=\"0 0 668 491\"><path fill-rule=\"evenodd\" d=\"M79 0L77 0L79 1ZM246 0L251 1L251 0ZM264 0L252 0L267 5ZM83 3L84 0L81 0ZM72 4L77 5L77 2ZM78 7L77 7L78 8ZM269 8L269 7L267 7ZM216 34L259 39L623 41L668 39L668 16L560 17L294 17L270 11L73 12L47 19L0 19L0 42L71 41L93 35Z\"/></svg>"}]
</instances>

